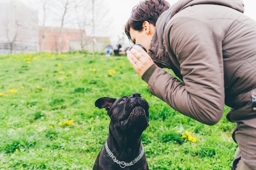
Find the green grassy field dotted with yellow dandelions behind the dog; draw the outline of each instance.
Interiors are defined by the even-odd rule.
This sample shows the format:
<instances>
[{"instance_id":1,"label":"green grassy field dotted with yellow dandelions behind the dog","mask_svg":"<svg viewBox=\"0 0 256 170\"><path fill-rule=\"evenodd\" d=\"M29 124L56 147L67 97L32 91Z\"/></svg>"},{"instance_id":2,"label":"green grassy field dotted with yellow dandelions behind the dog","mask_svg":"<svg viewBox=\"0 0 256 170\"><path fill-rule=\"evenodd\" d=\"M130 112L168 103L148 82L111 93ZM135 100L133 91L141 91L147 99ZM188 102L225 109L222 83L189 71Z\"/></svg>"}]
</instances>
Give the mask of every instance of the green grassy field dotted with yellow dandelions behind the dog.
<instances>
[{"instance_id":1,"label":"green grassy field dotted with yellow dandelions behind the dog","mask_svg":"<svg viewBox=\"0 0 256 170\"><path fill-rule=\"evenodd\" d=\"M110 122L95 100L134 92L150 105L150 170L231 169L229 108L207 126L150 95L125 56L38 53L0 56L0 170L92 170Z\"/></svg>"}]
</instances>

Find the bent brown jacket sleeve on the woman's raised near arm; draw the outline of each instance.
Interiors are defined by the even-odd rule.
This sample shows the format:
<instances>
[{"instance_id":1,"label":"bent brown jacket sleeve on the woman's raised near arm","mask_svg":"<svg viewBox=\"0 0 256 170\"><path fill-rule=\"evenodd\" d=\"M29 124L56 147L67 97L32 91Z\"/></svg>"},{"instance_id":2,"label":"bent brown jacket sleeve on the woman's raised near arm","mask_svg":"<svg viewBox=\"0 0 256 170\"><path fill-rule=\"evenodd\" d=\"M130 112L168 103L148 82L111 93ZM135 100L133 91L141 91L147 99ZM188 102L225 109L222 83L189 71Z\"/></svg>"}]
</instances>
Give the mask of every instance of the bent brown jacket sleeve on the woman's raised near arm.
<instances>
[{"instance_id":1,"label":"bent brown jacket sleeve on the woman's raised near arm","mask_svg":"<svg viewBox=\"0 0 256 170\"><path fill-rule=\"evenodd\" d=\"M225 105L221 39L207 19L195 16L173 19L164 39L180 63L184 83L153 65L142 77L149 92L186 116L216 124Z\"/></svg>"}]
</instances>

